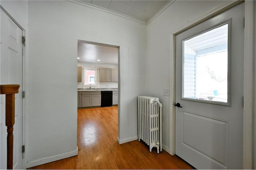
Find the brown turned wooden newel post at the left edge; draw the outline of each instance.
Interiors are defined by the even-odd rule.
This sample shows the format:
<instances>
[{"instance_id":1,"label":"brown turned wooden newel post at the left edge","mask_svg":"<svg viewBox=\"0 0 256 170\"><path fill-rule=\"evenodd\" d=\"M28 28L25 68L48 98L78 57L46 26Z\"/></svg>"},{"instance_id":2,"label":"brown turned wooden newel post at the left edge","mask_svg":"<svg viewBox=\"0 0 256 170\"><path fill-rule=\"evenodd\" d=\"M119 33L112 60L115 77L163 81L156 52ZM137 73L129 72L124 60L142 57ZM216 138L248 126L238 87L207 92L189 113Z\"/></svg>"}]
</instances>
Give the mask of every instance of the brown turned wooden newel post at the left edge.
<instances>
[{"instance_id":1,"label":"brown turned wooden newel post at the left edge","mask_svg":"<svg viewBox=\"0 0 256 170\"><path fill-rule=\"evenodd\" d=\"M7 169L13 168L13 125L15 123L15 94L19 84L0 85L0 94L5 94L5 125L7 126Z\"/></svg>"}]
</instances>

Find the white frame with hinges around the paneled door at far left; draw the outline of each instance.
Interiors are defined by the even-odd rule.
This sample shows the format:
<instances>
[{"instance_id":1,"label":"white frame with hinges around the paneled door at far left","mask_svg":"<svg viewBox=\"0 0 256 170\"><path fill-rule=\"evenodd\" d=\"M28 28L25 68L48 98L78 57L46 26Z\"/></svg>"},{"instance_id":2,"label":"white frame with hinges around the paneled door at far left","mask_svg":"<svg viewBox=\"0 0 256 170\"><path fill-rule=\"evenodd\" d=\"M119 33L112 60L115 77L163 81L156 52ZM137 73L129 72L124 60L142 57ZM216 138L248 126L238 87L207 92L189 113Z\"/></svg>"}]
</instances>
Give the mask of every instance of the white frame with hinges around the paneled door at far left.
<instances>
[{"instance_id":1,"label":"white frame with hinges around the paneled door at far left","mask_svg":"<svg viewBox=\"0 0 256 170\"><path fill-rule=\"evenodd\" d=\"M16 21L9 13L7 10L4 9L2 5L0 5L1 10L12 20L18 27L22 30L22 37L26 37L26 31L25 29ZM25 43L26 44L26 43ZM19 89L19 91L25 91L25 56L26 56L26 50L25 50L25 45L22 43L22 89ZM25 139L26 139L26 134L25 134L25 100L22 98L22 145L25 145ZM26 152L22 153L22 169L26 169Z\"/></svg>"}]
</instances>

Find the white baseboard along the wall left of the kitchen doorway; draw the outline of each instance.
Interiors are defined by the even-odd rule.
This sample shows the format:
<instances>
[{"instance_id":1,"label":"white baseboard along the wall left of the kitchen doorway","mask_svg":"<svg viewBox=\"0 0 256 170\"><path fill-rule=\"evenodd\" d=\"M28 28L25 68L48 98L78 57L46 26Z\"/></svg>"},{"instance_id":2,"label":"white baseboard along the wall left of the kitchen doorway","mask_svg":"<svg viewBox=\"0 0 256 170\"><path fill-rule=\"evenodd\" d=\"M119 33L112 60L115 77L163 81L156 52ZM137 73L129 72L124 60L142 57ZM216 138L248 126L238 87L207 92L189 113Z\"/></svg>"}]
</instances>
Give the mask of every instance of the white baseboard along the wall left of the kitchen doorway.
<instances>
[{"instance_id":1,"label":"white baseboard along the wall left of the kitchen doorway","mask_svg":"<svg viewBox=\"0 0 256 170\"><path fill-rule=\"evenodd\" d=\"M78 155L78 148L77 147L76 147L76 150L73 150L73 151L70 151L70 152L57 154L57 155L54 155L54 156L49 156L47 158L42 158L42 159L38 159L38 160L28 161L27 162L27 168L42 165L42 164L46 164L46 163L49 163L49 162L53 162L53 161L56 161L56 160L60 160L60 159L64 159L64 158L68 158L68 157L76 156L76 155Z\"/></svg>"}]
</instances>

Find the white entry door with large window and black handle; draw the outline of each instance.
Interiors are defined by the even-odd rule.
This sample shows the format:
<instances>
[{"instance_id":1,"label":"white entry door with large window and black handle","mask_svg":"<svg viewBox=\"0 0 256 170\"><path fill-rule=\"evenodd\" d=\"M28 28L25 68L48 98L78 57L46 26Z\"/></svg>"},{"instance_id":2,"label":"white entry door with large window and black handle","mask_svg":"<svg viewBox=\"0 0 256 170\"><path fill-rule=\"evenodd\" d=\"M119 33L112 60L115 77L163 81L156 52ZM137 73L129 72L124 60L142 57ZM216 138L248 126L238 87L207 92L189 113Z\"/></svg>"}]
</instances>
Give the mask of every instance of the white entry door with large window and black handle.
<instances>
[{"instance_id":1,"label":"white entry door with large window and black handle","mask_svg":"<svg viewBox=\"0 0 256 170\"><path fill-rule=\"evenodd\" d=\"M176 36L175 152L197 169L243 168L244 3Z\"/></svg>"}]
</instances>

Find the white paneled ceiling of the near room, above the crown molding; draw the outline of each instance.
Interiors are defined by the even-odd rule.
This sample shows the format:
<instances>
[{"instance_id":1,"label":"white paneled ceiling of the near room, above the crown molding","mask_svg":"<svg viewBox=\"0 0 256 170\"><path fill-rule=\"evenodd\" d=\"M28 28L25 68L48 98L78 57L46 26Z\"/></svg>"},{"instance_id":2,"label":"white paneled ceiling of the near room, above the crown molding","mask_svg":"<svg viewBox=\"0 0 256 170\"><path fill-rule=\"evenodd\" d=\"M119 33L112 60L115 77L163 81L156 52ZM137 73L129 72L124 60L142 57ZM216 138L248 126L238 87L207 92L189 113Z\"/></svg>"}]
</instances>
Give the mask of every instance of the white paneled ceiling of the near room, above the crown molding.
<instances>
[{"instance_id":1,"label":"white paneled ceiling of the near room, above the crown molding","mask_svg":"<svg viewBox=\"0 0 256 170\"><path fill-rule=\"evenodd\" d=\"M80 0L84 4L98 6L124 16L148 22L170 0Z\"/></svg>"}]
</instances>

